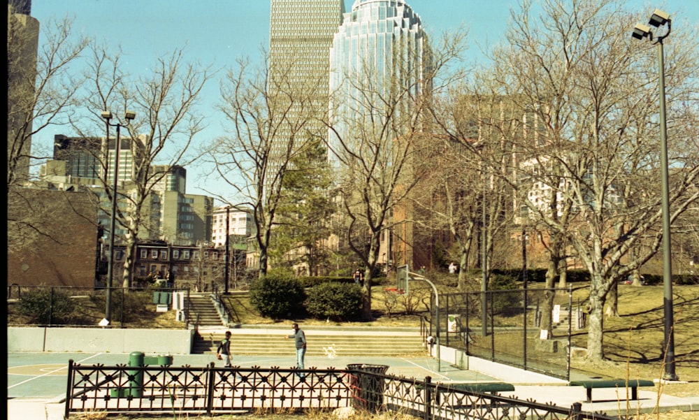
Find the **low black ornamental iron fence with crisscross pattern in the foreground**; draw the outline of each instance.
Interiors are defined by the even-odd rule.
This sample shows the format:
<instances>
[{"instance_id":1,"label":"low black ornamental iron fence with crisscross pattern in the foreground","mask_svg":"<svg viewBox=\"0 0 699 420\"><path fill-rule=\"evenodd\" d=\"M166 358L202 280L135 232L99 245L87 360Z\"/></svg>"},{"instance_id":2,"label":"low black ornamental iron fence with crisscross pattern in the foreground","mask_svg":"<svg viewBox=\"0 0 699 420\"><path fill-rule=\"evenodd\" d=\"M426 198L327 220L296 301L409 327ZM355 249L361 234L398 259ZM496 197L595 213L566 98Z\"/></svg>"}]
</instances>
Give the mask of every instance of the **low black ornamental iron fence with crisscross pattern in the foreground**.
<instances>
[{"instance_id":1,"label":"low black ornamental iron fence with crisscross pattern in the foreground","mask_svg":"<svg viewBox=\"0 0 699 420\"><path fill-rule=\"evenodd\" d=\"M161 363L164 363L161 361ZM315 368L203 368L168 365L80 365L69 362L65 417L102 412L242 414L245 412L354 407L368 412L405 412L426 420L612 420L497 394L380 373L387 366Z\"/></svg>"}]
</instances>

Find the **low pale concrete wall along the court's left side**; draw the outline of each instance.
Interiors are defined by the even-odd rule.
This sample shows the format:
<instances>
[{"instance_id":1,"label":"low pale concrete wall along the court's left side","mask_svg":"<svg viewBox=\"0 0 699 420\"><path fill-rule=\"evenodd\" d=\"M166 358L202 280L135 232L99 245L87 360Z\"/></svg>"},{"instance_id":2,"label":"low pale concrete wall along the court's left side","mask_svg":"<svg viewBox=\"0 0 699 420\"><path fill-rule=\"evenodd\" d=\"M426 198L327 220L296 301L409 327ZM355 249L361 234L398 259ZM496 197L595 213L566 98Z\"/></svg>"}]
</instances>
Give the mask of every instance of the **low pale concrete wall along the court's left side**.
<instances>
[{"instance_id":1,"label":"low pale concrete wall along the court's left side","mask_svg":"<svg viewBox=\"0 0 699 420\"><path fill-rule=\"evenodd\" d=\"M189 354L194 330L7 328L8 352Z\"/></svg>"}]
</instances>

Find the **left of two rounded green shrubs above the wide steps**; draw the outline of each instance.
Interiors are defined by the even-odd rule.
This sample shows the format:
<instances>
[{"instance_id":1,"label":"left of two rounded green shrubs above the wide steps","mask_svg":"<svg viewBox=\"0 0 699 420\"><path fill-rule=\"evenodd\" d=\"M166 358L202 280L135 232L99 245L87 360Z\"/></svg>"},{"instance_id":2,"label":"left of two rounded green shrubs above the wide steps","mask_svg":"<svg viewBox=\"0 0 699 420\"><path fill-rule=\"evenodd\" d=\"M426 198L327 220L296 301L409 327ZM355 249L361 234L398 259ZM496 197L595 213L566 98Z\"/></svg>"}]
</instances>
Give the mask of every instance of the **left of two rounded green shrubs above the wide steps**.
<instances>
[{"instance_id":1,"label":"left of two rounded green shrubs above the wide steps","mask_svg":"<svg viewBox=\"0 0 699 420\"><path fill-rule=\"evenodd\" d=\"M301 307L303 300L301 282L288 273L270 271L250 284L250 303L264 317L287 317Z\"/></svg>"}]
</instances>

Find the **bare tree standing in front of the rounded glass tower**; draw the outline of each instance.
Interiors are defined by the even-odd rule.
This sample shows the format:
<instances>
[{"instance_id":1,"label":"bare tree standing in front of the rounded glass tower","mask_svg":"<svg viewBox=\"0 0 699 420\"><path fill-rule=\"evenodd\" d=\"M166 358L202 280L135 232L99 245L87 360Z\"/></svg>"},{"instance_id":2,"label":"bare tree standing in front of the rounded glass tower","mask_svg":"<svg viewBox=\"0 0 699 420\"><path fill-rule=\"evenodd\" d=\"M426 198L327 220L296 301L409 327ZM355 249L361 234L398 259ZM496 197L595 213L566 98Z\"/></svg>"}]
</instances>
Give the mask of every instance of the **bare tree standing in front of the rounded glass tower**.
<instances>
[{"instance_id":1,"label":"bare tree standing in front of the rounded glass tower","mask_svg":"<svg viewBox=\"0 0 699 420\"><path fill-rule=\"evenodd\" d=\"M390 72L367 59L343 74L343 86L331 92L330 160L345 213L344 240L365 267L364 319L372 317L371 287L382 237L406 222L392 213L408 205L426 169L415 162L426 136L431 95L462 75L447 70L463 51L463 37L443 36L424 57L418 50L396 54Z\"/></svg>"}]
</instances>

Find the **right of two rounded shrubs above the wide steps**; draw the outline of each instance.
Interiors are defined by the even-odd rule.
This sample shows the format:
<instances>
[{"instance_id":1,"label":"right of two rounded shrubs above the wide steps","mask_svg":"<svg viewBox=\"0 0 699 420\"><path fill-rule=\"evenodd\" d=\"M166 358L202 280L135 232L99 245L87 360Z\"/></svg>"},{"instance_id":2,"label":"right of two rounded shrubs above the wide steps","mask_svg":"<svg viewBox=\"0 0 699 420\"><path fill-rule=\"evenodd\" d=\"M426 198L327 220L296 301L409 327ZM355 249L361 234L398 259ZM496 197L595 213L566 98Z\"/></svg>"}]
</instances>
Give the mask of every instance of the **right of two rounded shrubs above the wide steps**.
<instances>
[{"instance_id":1,"label":"right of two rounded shrubs above the wide steps","mask_svg":"<svg viewBox=\"0 0 699 420\"><path fill-rule=\"evenodd\" d=\"M319 319L352 319L361 311L361 287L354 283L319 284L308 291L306 310Z\"/></svg>"}]
</instances>

